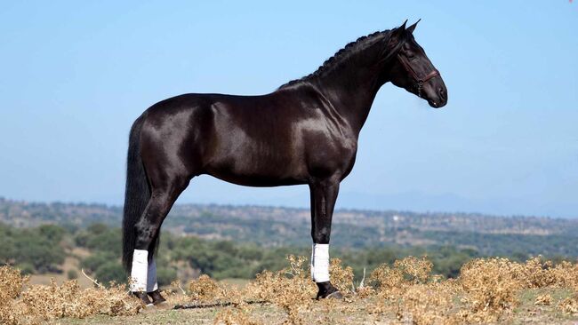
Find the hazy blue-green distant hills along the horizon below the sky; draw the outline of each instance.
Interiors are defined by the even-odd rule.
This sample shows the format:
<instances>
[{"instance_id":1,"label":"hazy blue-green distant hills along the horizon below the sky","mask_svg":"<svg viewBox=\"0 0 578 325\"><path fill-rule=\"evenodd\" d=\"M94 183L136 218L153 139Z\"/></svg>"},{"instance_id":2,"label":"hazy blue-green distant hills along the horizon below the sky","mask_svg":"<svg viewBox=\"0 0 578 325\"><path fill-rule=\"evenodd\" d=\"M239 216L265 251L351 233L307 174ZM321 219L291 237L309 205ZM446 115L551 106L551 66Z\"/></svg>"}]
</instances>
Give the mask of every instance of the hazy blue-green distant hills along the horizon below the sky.
<instances>
[{"instance_id":1,"label":"hazy blue-green distant hills along the horizon below the sky","mask_svg":"<svg viewBox=\"0 0 578 325\"><path fill-rule=\"evenodd\" d=\"M120 226L122 208L85 203L37 203L0 198L0 222L28 227L44 223L84 227ZM309 245L309 209L175 205L163 229L205 239L256 242L270 246ZM495 217L474 213L416 213L397 210L337 210L332 244L367 248L390 244L451 245L482 254L578 256L578 220Z\"/></svg>"}]
</instances>

